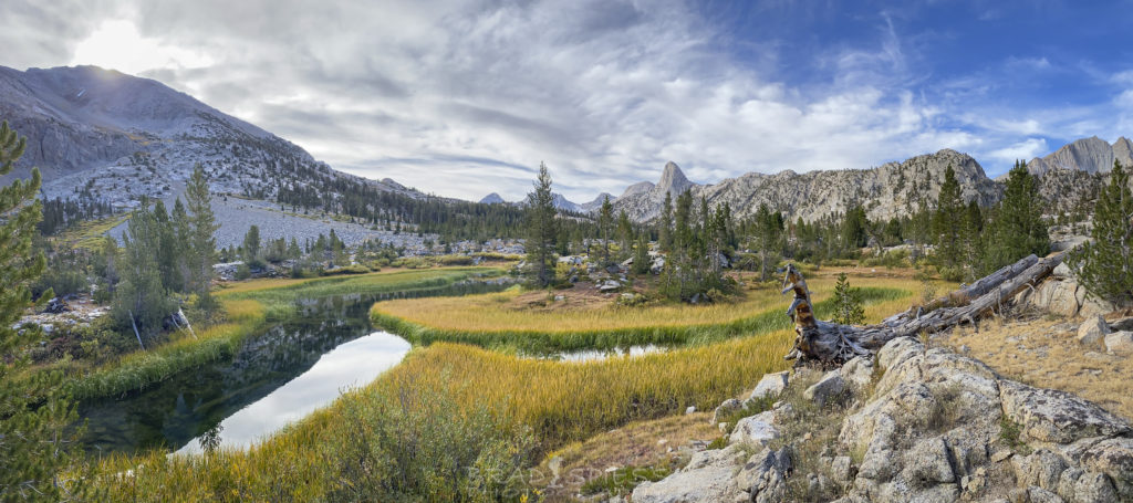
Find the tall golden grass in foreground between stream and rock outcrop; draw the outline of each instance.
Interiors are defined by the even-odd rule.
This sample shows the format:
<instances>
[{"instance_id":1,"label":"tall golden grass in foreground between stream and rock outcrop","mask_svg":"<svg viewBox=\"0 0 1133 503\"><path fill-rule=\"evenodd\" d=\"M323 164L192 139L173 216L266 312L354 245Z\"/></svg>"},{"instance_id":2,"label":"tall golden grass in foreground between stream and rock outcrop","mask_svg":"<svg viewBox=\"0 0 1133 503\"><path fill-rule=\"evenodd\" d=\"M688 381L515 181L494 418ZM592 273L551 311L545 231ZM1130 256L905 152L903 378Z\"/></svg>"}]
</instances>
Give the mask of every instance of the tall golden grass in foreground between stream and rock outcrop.
<instances>
[{"instance_id":1,"label":"tall golden grass in foreground between stream and rock outcrop","mask_svg":"<svg viewBox=\"0 0 1133 503\"><path fill-rule=\"evenodd\" d=\"M874 304L867 308L868 319L876 322L908 304L908 297ZM247 451L222 451L210 458L165 457L162 452L112 457L103 461L102 474L133 470L131 475L103 475L97 484L116 501L333 500L335 491L360 484L351 478L359 476L357 469L349 471L359 466L349 454L357 451L356 445L426 441L383 441L372 436L370 429L356 426L358 414L374 414L358 412L372 410L365 404L391 399L406 402L407 395L443 395L463 414L486 409L508 424L527 426L544 451L559 449L555 455L562 457L566 467L651 463L667 454L657 446L657 436L683 443L713 433L705 414L666 416L688 406L710 410L750 389L763 374L786 368L789 363L782 356L793 336L791 330L777 330L664 353L588 363L527 359L446 342L418 347L375 382L347 392ZM411 407L414 401L407 403ZM386 409L382 414L391 412ZM368 420L383 423L382 418ZM625 427L628 424L632 425ZM622 429L604 433L613 428ZM648 449L645 443L650 444ZM615 451L622 447L637 449L640 455L619 458Z\"/></svg>"}]
</instances>

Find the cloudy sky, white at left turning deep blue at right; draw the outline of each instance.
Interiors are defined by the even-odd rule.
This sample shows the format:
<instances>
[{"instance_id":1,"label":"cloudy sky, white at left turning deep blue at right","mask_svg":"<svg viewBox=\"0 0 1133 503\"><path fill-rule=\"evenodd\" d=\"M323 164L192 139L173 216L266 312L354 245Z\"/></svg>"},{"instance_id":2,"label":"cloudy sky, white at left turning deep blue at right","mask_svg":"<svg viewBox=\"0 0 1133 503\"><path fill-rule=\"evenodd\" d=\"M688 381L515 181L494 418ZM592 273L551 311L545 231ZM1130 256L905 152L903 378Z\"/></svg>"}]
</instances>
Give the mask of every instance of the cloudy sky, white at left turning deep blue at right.
<instances>
[{"instance_id":1,"label":"cloudy sky, white at left turning deep blue at right","mask_svg":"<svg viewBox=\"0 0 1133 503\"><path fill-rule=\"evenodd\" d=\"M0 65L97 65L332 167L517 201L1133 135L1133 0L5 0Z\"/></svg>"}]
</instances>

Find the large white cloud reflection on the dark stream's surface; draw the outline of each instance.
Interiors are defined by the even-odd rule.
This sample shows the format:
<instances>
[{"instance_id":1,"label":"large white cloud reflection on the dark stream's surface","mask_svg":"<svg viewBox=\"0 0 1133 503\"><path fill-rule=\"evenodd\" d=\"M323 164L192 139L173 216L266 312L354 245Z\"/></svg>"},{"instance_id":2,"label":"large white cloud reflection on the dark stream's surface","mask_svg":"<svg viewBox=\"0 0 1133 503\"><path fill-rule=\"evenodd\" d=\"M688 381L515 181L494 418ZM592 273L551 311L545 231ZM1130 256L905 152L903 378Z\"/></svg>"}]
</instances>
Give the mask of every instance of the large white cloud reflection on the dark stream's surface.
<instances>
[{"instance_id":1,"label":"large white cloud reflection on the dark stream's surface","mask_svg":"<svg viewBox=\"0 0 1133 503\"><path fill-rule=\"evenodd\" d=\"M369 383L401 361L408 351L409 342L386 332L375 332L334 348L309 370L221 421L221 446L247 447L329 404L343 389ZM177 452L199 453L201 443L194 438Z\"/></svg>"}]
</instances>

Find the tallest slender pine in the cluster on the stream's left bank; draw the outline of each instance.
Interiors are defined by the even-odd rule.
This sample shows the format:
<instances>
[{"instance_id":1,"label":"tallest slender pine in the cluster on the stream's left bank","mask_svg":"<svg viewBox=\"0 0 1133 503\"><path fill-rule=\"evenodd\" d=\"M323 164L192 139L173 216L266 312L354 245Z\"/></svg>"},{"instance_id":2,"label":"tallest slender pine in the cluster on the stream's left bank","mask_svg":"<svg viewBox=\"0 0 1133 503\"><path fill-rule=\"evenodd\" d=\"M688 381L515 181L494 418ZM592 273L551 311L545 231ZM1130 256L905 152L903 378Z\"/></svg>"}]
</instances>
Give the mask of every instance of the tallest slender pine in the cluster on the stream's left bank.
<instances>
[{"instance_id":1,"label":"tallest slender pine in the cluster on the stream's left bank","mask_svg":"<svg viewBox=\"0 0 1133 503\"><path fill-rule=\"evenodd\" d=\"M216 239L213 235L220 229L212 211L212 196L208 193L208 180L204 168L197 163L185 189L185 202L191 214L189 219L188 262L190 264L189 288L197 293L197 304L212 307L208 295L212 282L213 264L216 263Z\"/></svg>"}]
</instances>

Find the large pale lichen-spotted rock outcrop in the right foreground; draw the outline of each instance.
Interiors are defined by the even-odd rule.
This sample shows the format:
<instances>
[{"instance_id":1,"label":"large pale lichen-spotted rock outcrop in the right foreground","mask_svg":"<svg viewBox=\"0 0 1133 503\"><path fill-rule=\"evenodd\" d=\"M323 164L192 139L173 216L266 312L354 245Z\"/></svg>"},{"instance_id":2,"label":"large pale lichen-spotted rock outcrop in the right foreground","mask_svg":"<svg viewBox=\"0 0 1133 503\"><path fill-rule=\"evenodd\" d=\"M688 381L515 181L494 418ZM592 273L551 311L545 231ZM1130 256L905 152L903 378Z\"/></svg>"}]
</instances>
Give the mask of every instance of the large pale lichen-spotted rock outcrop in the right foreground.
<instances>
[{"instance_id":1,"label":"large pale lichen-spotted rock outcrop in the right foreground","mask_svg":"<svg viewBox=\"0 0 1133 503\"><path fill-rule=\"evenodd\" d=\"M1133 426L1126 419L911 338L889 341L872 365L879 368L870 368L870 385L849 386L853 394L843 398L850 406L838 434L818 459L800 454L808 442L819 442L809 433L770 441L749 433L777 436L791 421L813 418L794 410L815 406L778 402L749 418L757 428L733 433L727 447L642 484L632 501L813 501L816 494L834 494L838 503L1133 501ZM818 382L857 383L864 368L851 360ZM816 395L798 393L808 402ZM743 449L757 453L746 457Z\"/></svg>"}]
</instances>

